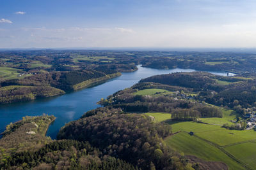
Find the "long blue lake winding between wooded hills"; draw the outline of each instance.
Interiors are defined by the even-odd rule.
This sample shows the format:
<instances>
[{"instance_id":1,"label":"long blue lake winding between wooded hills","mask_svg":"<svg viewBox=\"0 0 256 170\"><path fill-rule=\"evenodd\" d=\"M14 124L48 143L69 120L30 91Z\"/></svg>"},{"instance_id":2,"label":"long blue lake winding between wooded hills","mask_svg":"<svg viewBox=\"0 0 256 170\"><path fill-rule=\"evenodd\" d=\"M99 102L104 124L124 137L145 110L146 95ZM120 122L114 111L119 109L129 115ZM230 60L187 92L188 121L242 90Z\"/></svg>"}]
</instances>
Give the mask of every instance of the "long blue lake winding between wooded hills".
<instances>
[{"instance_id":1,"label":"long blue lake winding between wooded hills","mask_svg":"<svg viewBox=\"0 0 256 170\"><path fill-rule=\"evenodd\" d=\"M37 116L47 113L54 115L56 120L50 125L47 136L56 139L56 135L63 125L77 120L84 112L93 110L100 105L97 101L100 98L106 98L118 90L131 87L141 80L149 76L157 74L167 74L175 72L191 72L194 69L151 69L138 66L138 71L132 73L122 73L122 76L105 81L100 85L89 87L87 89L71 92L63 96L51 97L47 99L38 99L28 103L4 104L0 106L0 132L3 132L6 125L10 122L17 122L22 117ZM227 73L209 72L221 76L227 76ZM229 73L229 76L234 74Z\"/></svg>"}]
</instances>

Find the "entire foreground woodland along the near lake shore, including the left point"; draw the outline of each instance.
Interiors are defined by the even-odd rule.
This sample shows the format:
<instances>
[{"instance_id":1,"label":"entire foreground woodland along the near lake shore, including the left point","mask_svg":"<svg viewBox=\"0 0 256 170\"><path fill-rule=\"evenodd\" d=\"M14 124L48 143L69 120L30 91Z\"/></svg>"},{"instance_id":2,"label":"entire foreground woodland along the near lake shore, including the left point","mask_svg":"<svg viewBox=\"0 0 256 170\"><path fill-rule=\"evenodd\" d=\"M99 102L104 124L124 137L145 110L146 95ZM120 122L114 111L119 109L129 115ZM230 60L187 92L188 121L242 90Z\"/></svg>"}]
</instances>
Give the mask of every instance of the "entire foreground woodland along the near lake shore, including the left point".
<instances>
[{"instance_id":1,"label":"entire foreground woodland along the near lake shore, including the left point","mask_svg":"<svg viewBox=\"0 0 256 170\"><path fill-rule=\"evenodd\" d=\"M163 138L172 135L170 125L155 123L147 115L97 108L65 125L57 141L44 136L52 120L49 116L26 117L8 125L0 139L0 169L200 167L165 145Z\"/></svg>"}]
</instances>

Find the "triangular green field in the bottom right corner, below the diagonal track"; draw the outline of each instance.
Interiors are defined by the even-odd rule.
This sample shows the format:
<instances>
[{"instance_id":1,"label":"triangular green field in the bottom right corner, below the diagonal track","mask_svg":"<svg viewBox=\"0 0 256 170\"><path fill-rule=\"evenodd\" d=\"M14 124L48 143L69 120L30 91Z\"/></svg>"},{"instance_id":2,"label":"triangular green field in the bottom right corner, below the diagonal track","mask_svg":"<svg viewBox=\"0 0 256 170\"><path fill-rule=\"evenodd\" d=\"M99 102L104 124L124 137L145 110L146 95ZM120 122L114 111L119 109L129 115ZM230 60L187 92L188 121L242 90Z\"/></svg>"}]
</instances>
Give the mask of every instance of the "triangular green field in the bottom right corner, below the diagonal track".
<instances>
[{"instance_id":1,"label":"triangular green field in the bottom right corner, below the diagonal track","mask_svg":"<svg viewBox=\"0 0 256 170\"><path fill-rule=\"evenodd\" d=\"M241 160L248 166L255 169L256 167L256 143L241 143L225 148L227 152L231 153L237 159Z\"/></svg>"}]
</instances>

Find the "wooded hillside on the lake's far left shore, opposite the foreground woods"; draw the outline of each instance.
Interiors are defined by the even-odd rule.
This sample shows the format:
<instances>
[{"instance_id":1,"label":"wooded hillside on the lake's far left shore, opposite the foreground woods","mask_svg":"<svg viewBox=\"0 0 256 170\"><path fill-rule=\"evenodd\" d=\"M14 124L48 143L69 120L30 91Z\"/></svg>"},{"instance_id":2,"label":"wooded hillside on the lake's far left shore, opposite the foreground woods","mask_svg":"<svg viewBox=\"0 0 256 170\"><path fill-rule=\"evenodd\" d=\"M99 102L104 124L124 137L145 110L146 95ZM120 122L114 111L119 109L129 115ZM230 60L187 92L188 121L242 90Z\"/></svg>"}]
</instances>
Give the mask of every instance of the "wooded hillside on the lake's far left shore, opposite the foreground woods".
<instances>
[{"instance_id":1,"label":"wooded hillside on the lake's far left shore, opposite the foreground woods","mask_svg":"<svg viewBox=\"0 0 256 170\"><path fill-rule=\"evenodd\" d=\"M88 87L92 83L120 76L114 70L83 70L34 74L23 79L1 81L0 104L31 101L40 97L65 94Z\"/></svg>"}]
</instances>

